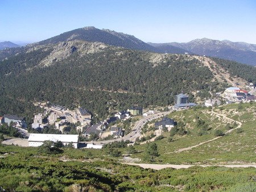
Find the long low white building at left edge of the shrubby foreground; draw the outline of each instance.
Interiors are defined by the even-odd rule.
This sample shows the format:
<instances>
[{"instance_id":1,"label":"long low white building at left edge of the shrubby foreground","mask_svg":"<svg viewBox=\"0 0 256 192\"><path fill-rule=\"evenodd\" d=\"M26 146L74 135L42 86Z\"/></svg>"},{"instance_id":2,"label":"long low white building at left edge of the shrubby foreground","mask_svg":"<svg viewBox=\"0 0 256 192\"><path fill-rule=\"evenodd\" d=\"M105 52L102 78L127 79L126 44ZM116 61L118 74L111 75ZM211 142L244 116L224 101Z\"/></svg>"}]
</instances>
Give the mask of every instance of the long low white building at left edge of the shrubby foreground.
<instances>
[{"instance_id":1,"label":"long low white building at left edge of the shrubby foreground","mask_svg":"<svg viewBox=\"0 0 256 192\"><path fill-rule=\"evenodd\" d=\"M39 147L44 141L61 141L64 145L73 144L74 148L79 147L79 135L62 135L62 134L39 134L30 133L28 137L28 146Z\"/></svg>"}]
</instances>

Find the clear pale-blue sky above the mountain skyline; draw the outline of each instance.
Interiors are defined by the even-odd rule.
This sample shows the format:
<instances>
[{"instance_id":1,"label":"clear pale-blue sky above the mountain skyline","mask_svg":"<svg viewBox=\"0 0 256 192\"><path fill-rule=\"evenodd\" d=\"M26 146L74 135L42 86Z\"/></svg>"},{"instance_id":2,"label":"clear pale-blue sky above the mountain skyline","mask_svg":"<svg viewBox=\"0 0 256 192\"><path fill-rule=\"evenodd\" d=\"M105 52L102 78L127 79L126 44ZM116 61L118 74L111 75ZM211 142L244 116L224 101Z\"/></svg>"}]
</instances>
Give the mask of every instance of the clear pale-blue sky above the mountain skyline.
<instances>
[{"instance_id":1,"label":"clear pale-blue sky above the mountain skyline","mask_svg":"<svg viewBox=\"0 0 256 192\"><path fill-rule=\"evenodd\" d=\"M0 0L0 41L35 42L85 26L153 43L208 37L256 44L256 1Z\"/></svg>"}]
</instances>

